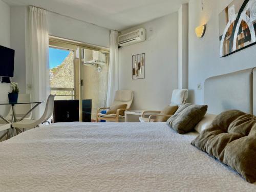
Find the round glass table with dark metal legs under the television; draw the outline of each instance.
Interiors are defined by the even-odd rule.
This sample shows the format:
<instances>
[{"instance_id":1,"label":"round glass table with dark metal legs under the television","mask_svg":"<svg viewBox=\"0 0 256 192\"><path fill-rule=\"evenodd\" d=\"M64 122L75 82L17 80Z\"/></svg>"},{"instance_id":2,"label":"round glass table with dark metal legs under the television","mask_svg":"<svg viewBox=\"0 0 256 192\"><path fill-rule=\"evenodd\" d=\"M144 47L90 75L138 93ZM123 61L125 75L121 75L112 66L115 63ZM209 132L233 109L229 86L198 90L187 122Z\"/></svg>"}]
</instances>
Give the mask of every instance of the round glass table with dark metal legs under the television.
<instances>
[{"instance_id":1,"label":"round glass table with dark metal legs under the television","mask_svg":"<svg viewBox=\"0 0 256 192\"><path fill-rule=\"evenodd\" d=\"M16 102L16 103L10 103L10 102L1 102L0 105L11 105L12 108L12 122L0 115L0 119L3 119L6 123L13 123L13 122L18 122L22 121L28 114L30 114L39 104L44 103L44 101L36 101L36 102ZM15 105L20 105L20 104L35 104L22 118L17 119L16 112L15 112ZM13 129L12 129L12 134L13 134ZM12 135L11 134L11 135ZM6 136L9 135L9 131L7 131L4 135L0 136L0 140Z\"/></svg>"}]
</instances>

